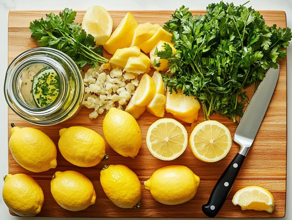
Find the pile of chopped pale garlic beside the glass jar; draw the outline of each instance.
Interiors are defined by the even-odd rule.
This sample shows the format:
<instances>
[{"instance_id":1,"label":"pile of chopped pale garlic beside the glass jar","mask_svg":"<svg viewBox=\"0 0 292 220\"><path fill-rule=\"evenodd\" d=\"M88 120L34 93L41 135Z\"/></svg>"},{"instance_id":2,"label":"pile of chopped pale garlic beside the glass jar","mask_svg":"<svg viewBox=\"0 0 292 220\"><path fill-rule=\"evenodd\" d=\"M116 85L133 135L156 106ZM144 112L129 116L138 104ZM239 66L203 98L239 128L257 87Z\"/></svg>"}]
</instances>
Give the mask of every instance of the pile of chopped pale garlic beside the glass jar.
<instances>
[{"instance_id":1,"label":"pile of chopped pale garlic beside the glass jar","mask_svg":"<svg viewBox=\"0 0 292 220\"><path fill-rule=\"evenodd\" d=\"M139 84L136 74L115 68L106 74L104 70L110 69L109 64L102 64L89 69L84 75L85 96L83 105L94 109L89 118L97 118L99 114L108 111L119 104L118 109L123 109L135 92L135 86ZM132 80L132 82L129 82Z\"/></svg>"}]
</instances>

